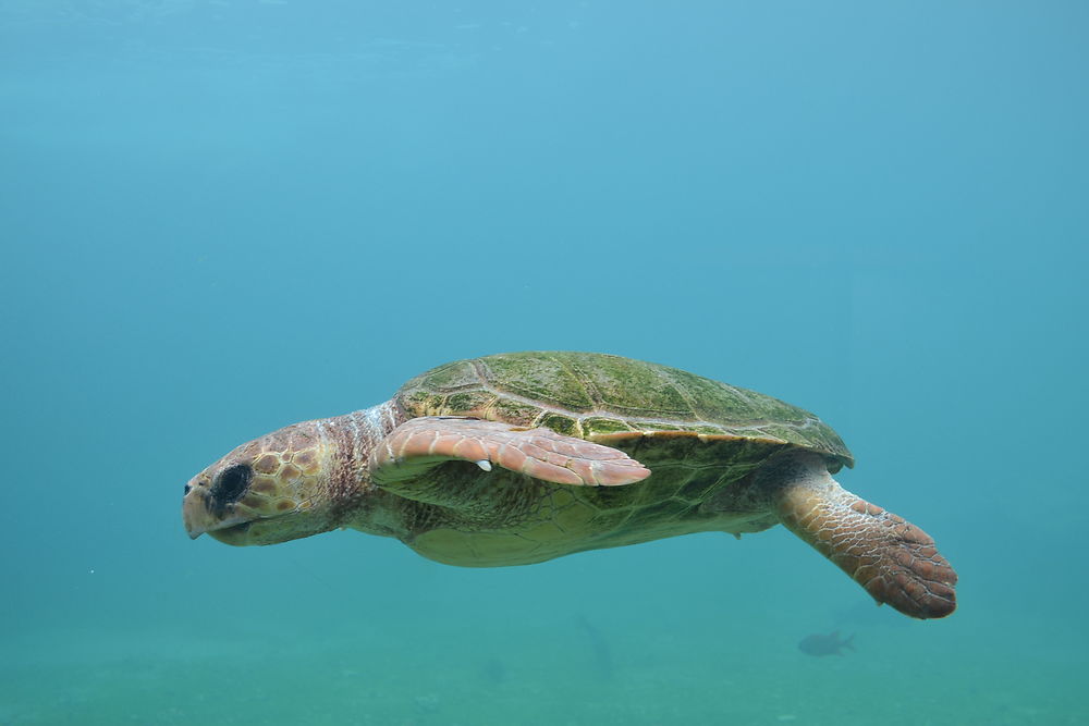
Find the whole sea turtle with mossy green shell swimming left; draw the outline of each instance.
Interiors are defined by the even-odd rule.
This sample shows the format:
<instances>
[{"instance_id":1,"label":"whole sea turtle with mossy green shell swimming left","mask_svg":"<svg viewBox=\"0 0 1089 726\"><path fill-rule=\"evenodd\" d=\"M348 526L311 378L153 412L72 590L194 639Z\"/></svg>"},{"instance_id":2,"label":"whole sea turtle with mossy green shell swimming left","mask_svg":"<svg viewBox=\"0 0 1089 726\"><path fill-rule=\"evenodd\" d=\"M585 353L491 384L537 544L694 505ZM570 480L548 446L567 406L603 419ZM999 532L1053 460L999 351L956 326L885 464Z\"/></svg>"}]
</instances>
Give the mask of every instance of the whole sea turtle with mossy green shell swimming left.
<instances>
[{"instance_id":1,"label":"whole sea turtle with mossy green shell swimming left","mask_svg":"<svg viewBox=\"0 0 1089 726\"><path fill-rule=\"evenodd\" d=\"M452 565L527 565L782 522L878 603L956 607L918 527L840 487L853 458L812 414L657 364L511 353L238 446L185 485L193 538L273 544L351 527Z\"/></svg>"}]
</instances>

